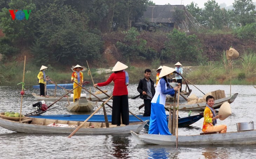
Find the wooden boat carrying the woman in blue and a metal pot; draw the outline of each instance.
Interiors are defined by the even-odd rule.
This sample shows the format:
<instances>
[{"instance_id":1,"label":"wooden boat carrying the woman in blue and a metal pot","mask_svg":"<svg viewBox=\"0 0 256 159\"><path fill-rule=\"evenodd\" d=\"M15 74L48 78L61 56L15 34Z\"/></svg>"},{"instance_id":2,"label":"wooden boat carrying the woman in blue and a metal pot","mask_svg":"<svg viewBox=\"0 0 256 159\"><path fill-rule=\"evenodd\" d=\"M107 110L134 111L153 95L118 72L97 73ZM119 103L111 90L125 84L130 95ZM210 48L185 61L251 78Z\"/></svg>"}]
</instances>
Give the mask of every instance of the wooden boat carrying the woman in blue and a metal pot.
<instances>
[{"instance_id":1,"label":"wooden boat carrying the woman in blue and a metal pot","mask_svg":"<svg viewBox=\"0 0 256 159\"><path fill-rule=\"evenodd\" d=\"M137 134L131 131L139 145L176 145L175 135ZM178 145L215 145L215 144L256 144L256 130L237 131L204 135L179 135Z\"/></svg>"}]
</instances>

